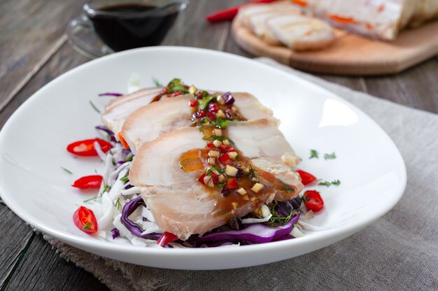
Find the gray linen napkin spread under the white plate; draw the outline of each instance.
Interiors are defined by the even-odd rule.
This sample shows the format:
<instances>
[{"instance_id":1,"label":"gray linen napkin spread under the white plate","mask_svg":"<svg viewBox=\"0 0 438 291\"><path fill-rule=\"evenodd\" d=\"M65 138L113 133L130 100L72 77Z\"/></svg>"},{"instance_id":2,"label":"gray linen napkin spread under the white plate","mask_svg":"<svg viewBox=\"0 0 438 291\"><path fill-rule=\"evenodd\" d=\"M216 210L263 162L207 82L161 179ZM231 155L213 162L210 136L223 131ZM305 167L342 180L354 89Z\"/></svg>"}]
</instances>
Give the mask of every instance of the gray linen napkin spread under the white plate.
<instances>
[{"instance_id":1,"label":"gray linen napkin spread under the white plate","mask_svg":"<svg viewBox=\"0 0 438 291\"><path fill-rule=\"evenodd\" d=\"M407 190L392 211L327 248L283 262L225 271L139 267L46 239L62 257L115 291L438 290L438 115L355 92L270 59L259 61L338 94L388 132L408 172Z\"/></svg>"}]
</instances>

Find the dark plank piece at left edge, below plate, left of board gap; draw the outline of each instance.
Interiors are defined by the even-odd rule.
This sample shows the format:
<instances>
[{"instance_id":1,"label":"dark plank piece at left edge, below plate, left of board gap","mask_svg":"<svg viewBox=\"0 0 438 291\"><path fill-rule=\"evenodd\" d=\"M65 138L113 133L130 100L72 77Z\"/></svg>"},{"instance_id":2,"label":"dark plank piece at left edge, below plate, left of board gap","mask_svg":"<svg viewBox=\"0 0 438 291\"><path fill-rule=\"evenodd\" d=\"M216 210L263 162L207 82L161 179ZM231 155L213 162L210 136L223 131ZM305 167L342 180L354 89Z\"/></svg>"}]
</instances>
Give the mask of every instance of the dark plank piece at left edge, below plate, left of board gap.
<instances>
[{"instance_id":1,"label":"dark plank piece at left edge, below plate, left of board gap","mask_svg":"<svg viewBox=\"0 0 438 291\"><path fill-rule=\"evenodd\" d=\"M31 227L24 223L10 209L0 204L1 244L0 244L0 286L7 281L15 265L20 263L20 257L25 252L28 241L33 234Z\"/></svg>"}]
</instances>

